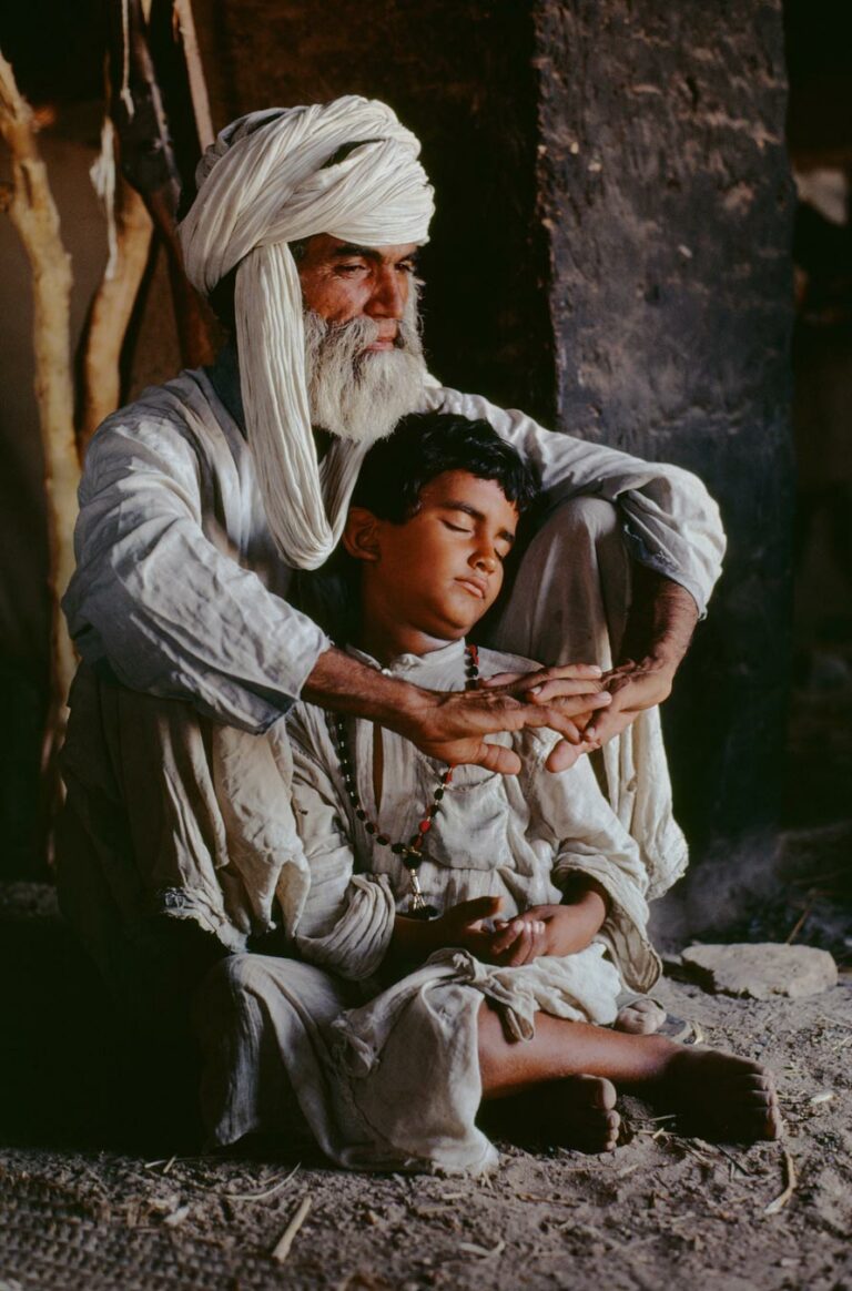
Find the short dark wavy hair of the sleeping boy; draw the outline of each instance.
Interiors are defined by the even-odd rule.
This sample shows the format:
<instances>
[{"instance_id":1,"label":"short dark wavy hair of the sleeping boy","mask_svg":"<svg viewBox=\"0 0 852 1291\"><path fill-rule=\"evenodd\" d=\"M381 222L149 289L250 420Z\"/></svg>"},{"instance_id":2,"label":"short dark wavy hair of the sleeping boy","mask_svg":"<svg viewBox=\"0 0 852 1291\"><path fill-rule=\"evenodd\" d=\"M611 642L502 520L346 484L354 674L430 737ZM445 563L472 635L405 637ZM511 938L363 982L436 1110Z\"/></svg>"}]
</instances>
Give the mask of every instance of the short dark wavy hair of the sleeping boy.
<instances>
[{"instance_id":1,"label":"short dark wavy hair of the sleeping boy","mask_svg":"<svg viewBox=\"0 0 852 1291\"><path fill-rule=\"evenodd\" d=\"M533 467L487 421L416 412L369 449L351 505L365 507L380 520L403 524L417 514L426 484L444 471L467 471L476 479L494 480L519 514L538 494Z\"/></svg>"}]
</instances>

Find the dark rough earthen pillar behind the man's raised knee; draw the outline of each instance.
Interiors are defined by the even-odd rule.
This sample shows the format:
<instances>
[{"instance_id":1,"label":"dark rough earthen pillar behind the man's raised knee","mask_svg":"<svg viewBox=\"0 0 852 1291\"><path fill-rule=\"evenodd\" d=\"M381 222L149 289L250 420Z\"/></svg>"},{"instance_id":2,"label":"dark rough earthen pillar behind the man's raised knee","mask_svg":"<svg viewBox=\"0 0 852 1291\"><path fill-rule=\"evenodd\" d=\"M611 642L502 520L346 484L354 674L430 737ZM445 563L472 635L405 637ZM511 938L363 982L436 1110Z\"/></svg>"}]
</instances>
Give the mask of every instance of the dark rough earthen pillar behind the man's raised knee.
<instances>
[{"instance_id":1,"label":"dark rough earthen pillar behind the man's raised knee","mask_svg":"<svg viewBox=\"0 0 852 1291\"><path fill-rule=\"evenodd\" d=\"M777 807L793 467L780 0L540 0L560 429L697 474L725 573L669 711L693 842Z\"/></svg>"}]
</instances>

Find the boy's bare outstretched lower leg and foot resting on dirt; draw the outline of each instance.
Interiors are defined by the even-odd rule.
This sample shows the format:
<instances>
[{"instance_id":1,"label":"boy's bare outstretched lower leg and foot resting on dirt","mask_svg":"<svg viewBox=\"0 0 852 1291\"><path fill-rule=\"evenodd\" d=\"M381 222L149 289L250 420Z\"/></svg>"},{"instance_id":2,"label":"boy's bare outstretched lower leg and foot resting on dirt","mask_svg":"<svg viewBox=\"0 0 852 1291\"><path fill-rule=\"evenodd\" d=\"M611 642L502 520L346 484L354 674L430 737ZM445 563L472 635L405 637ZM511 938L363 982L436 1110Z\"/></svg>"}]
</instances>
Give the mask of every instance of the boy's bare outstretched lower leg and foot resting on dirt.
<instances>
[{"instance_id":1,"label":"boy's bare outstretched lower leg and foot resting on dirt","mask_svg":"<svg viewBox=\"0 0 852 1291\"><path fill-rule=\"evenodd\" d=\"M603 1081L598 1103L609 1100L614 1082L676 1113L704 1137L754 1141L781 1132L775 1083L764 1068L718 1050L684 1048L661 1035L626 1035L538 1013L534 1037L512 1043L485 1003L479 1011L479 1066L484 1100L563 1081L569 1081L567 1096L576 1097L577 1078L596 1077ZM599 1110L611 1113L612 1106Z\"/></svg>"}]
</instances>

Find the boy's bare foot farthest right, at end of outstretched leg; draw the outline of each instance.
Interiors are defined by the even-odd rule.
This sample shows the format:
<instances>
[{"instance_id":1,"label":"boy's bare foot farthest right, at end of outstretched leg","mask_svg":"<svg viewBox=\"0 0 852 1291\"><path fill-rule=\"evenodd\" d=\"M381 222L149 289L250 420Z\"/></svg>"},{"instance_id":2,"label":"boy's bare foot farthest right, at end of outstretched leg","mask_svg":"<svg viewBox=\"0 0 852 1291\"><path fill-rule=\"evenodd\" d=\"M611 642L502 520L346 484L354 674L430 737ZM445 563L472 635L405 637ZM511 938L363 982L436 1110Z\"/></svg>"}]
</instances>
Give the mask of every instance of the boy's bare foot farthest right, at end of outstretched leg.
<instances>
[{"instance_id":1,"label":"boy's bare foot farthest right, at end of outstretched leg","mask_svg":"<svg viewBox=\"0 0 852 1291\"><path fill-rule=\"evenodd\" d=\"M723 1143L781 1137L775 1081L750 1059L678 1047L653 1093L647 1086L645 1091L662 1109L678 1114L678 1128L685 1133Z\"/></svg>"}]
</instances>

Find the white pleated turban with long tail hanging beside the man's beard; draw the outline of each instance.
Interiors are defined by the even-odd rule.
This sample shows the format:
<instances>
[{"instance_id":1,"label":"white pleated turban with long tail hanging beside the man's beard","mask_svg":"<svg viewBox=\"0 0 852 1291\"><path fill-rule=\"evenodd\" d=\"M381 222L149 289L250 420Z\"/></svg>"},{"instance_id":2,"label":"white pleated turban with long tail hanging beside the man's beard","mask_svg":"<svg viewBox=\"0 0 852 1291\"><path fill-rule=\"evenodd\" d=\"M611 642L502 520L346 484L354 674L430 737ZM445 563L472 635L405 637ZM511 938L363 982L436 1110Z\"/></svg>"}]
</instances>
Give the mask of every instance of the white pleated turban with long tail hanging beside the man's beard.
<instances>
[{"instance_id":1,"label":"white pleated turban with long tail hanging beside the man's beard","mask_svg":"<svg viewBox=\"0 0 852 1291\"><path fill-rule=\"evenodd\" d=\"M328 165L345 145L358 145ZM248 440L285 559L323 564L340 540L364 445L334 440L321 466L305 382L302 292L287 245L330 234L361 247L423 243L432 190L420 142L385 103L350 96L232 121L201 158L179 226L205 294L236 272L236 340Z\"/></svg>"}]
</instances>

